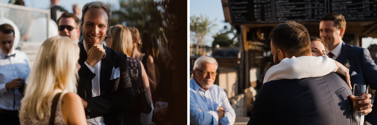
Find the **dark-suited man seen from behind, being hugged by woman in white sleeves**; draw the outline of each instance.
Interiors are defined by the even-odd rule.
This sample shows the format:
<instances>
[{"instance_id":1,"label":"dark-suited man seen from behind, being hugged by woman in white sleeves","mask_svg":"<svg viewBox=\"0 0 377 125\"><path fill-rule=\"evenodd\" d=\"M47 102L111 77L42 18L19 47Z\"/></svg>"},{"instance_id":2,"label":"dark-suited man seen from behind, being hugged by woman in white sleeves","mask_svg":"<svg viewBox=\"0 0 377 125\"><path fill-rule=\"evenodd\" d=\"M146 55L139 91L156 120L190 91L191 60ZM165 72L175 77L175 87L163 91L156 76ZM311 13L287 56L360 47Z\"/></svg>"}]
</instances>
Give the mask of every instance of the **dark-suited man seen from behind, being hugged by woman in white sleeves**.
<instances>
[{"instance_id":1,"label":"dark-suited man seen from behind, being hugged by woman in white sleeves","mask_svg":"<svg viewBox=\"0 0 377 125\"><path fill-rule=\"evenodd\" d=\"M284 58L311 56L310 36L302 24L281 23L271 31L270 38L274 67L281 66ZM284 75L289 72L281 73L280 80L262 85L248 125L351 124L352 93L343 76L332 72L315 78L288 79Z\"/></svg>"}]
</instances>

